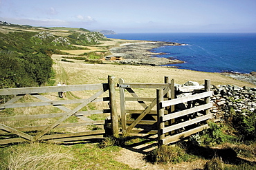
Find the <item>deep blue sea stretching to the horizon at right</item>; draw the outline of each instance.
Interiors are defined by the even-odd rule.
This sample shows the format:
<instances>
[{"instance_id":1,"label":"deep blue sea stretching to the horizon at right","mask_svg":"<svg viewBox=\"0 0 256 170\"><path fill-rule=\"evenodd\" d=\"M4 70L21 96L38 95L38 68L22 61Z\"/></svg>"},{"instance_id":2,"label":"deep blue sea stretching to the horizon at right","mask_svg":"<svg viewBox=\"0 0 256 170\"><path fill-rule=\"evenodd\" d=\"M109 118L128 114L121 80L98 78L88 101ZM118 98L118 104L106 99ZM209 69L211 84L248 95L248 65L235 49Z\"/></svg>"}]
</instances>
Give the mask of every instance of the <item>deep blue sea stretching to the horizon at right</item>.
<instances>
[{"instance_id":1,"label":"deep blue sea stretching to the horizon at right","mask_svg":"<svg viewBox=\"0 0 256 170\"><path fill-rule=\"evenodd\" d=\"M202 72L256 72L256 33L126 33L113 39L167 41L184 46L163 46L154 52L185 61L172 66Z\"/></svg>"}]
</instances>

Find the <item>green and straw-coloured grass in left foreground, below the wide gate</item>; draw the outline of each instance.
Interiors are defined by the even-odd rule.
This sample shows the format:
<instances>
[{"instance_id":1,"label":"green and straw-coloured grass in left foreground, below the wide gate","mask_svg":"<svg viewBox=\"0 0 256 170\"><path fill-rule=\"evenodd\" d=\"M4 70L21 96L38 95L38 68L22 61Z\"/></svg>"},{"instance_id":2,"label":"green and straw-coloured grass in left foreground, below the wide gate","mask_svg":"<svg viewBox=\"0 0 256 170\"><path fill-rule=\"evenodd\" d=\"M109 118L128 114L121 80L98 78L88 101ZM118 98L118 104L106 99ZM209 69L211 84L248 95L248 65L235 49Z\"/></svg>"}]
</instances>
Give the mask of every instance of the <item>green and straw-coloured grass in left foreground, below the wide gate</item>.
<instances>
[{"instance_id":1,"label":"green and straw-coloured grass in left foreground, below the wide gate","mask_svg":"<svg viewBox=\"0 0 256 170\"><path fill-rule=\"evenodd\" d=\"M24 143L1 148L0 169L131 169L116 162L120 147L77 144Z\"/></svg>"}]
</instances>

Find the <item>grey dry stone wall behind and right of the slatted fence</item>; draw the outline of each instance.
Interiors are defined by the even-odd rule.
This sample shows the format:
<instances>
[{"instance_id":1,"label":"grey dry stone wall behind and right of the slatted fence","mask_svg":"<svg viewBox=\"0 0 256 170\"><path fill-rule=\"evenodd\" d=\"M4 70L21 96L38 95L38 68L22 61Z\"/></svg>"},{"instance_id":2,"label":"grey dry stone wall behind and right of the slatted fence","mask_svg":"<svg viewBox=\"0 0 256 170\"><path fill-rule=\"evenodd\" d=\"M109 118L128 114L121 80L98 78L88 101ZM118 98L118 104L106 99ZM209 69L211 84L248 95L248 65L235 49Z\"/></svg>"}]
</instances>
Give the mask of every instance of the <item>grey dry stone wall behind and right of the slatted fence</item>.
<instances>
[{"instance_id":1,"label":"grey dry stone wall behind and right of the slatted fence","mask_svg":"<svg viewBox=\"0 0 256 170\"><path fill-rule=\"evenodd\" d=\"M184 85L175 85L176 97L189 96L197 89L203 89L203 85L189 81ZM235 112L246 111L256 113L256 88L238 87L237 85L211 85L213 95L210 98L213 103L210 112L215 121L225 120L232 116L230 109Z\"/></svg>"}]
</instances>

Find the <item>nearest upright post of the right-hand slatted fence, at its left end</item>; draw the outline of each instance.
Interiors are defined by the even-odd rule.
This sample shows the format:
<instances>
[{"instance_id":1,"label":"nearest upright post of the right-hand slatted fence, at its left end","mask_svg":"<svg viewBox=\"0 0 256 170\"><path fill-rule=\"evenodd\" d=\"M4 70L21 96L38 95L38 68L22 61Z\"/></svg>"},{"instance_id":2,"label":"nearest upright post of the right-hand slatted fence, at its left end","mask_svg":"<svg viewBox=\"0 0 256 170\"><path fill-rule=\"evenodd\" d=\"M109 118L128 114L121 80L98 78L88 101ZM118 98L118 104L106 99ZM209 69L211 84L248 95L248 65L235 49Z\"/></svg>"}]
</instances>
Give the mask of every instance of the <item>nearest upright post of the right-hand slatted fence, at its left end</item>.
<instances>
[{"instance_id":1,"label":"nearest upright post of the right-hand slatted fence, at its left end","mask_svg":"<svg viewBox=\"0 0 256 170\"><path fill-rule=\"evenodd\" d=\"M165 128L165 123L163 122L164 108L161 105L162 101L163 89L156 89L158 147L161 147L161 145L163 145L163 139L165 138L165 134L163 134L163 128Z\"/></svg>"}]
</instances>

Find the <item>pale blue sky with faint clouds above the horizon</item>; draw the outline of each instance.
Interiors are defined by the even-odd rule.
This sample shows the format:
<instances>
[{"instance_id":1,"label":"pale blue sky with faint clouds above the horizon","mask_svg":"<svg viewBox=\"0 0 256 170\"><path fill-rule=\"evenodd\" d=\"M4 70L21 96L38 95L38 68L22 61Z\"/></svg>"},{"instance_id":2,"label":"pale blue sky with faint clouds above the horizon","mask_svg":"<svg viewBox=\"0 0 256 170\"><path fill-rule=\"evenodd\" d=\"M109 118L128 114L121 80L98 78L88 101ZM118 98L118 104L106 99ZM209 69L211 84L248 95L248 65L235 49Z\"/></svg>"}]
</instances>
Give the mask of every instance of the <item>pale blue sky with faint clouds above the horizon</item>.
<instances>
[{"instance_id":1,"label":"pale blue sky with faint clouds above the horizon","mask_svg":"<svg viewBox=\"0 0 256 170\"><path fill-rule=\"evenodd\" d=\"M256 32L255 0L0 0L0 20L123 32Z\"/></svg>"}]
</instances>

